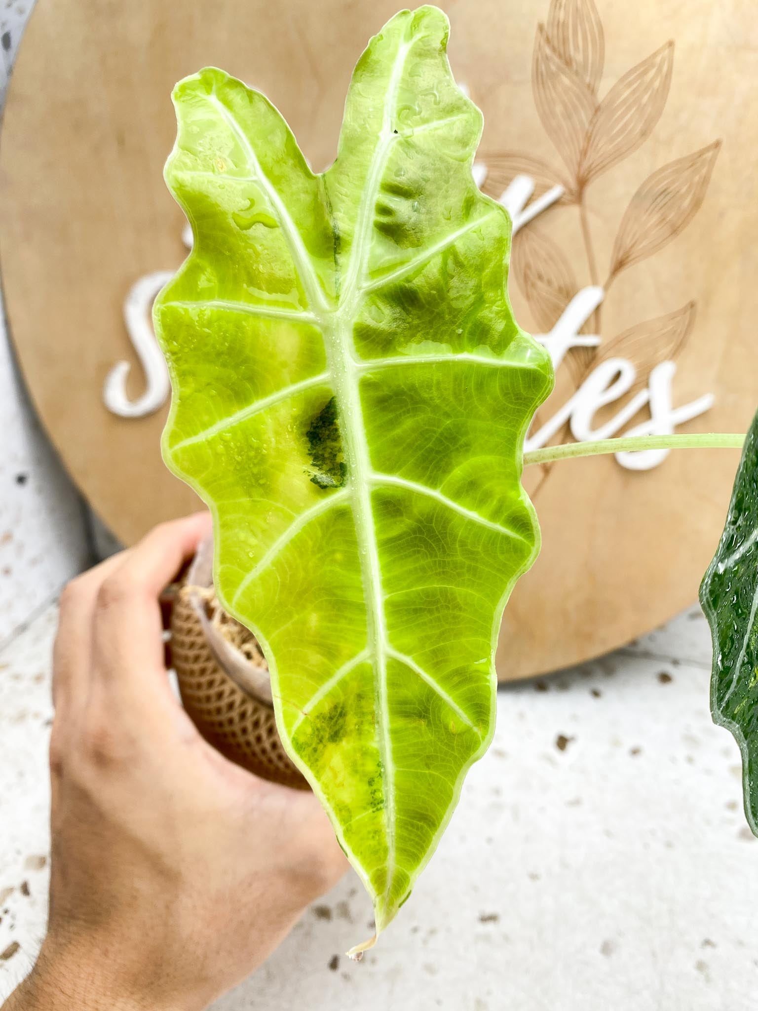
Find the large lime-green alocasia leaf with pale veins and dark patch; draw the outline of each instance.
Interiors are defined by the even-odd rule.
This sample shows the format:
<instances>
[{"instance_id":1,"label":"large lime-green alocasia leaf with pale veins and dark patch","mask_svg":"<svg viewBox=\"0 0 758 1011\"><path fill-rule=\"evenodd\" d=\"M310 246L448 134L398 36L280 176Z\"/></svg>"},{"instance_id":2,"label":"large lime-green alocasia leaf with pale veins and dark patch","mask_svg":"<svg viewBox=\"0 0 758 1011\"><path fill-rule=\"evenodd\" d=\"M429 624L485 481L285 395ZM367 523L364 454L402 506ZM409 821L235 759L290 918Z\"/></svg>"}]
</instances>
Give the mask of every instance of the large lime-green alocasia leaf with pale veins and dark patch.
<instances>
[{"instance_id":1,"label":"large lime-green alocasia leaf with pale veins and dark patch","mask_svg":"<svg viewBox=\"0 0 758 1011\"><path fill-rule=\"evenodd\" d=\"M422 7L371 40L322 175L263 95L180 82L166 178L195 244L155 308L165 459L213 514L218 594L377 931L491 739L499 620L538 549L524 437L552 383L511 315L448 28Z\"/></svg>"}]
</instances>

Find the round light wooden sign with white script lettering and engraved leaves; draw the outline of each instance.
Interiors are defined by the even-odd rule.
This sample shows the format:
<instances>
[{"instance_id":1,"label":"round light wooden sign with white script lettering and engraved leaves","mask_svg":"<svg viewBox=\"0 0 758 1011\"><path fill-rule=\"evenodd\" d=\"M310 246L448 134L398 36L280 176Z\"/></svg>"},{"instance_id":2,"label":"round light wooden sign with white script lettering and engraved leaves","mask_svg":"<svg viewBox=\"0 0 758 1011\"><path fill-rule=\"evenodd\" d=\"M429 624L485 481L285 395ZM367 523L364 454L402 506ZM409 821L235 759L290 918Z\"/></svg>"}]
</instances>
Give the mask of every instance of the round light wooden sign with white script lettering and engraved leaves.
<instances>
[{"instance_id":1,"label":"round light wooden sign with white script lettering and engraved leaves","mask_svg":"<svg viewBox=\"0 0 758 1011\"><path fill-rule=\"evenodd\" d=\"M480 184L513 215L516 316L557 364L530 444L745 431L758 402L750 0L639 0L633 18L615 0L441 5L485 115ZM395 9L38 0L3 127L7 311L49 433L124 541L196 504L161 461L165 377L146 334L156 272L185 253L162 178L172 86L208 64L243 78L320 169L352 67ZM500 677L586 659L694 601L736 463L710 450L530 470L543 550L506 609Z\"/></svg>"}]
</instances>

